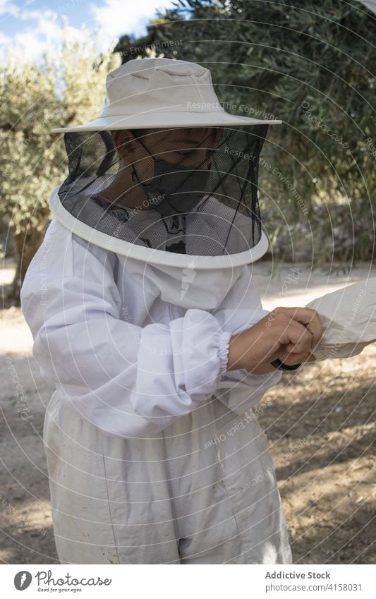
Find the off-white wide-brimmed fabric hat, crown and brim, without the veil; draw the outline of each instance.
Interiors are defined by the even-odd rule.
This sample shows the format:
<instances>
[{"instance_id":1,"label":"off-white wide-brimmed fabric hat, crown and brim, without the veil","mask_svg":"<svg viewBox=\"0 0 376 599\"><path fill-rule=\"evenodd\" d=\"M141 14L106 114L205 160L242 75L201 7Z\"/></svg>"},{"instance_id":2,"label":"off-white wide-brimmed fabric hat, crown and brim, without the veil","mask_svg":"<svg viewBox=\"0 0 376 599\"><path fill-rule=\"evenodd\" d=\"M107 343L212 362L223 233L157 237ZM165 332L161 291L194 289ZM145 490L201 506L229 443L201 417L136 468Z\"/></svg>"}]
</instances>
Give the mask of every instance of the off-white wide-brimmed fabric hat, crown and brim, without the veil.
<instances>
[{"instance_id":1,"label":"off-white wide-brimmed fabric hat, crown and brim, without the veil","mask_svg":"<svg viewBox=\"0 0 376 599\"><path fill-rule=\"evenodd\" d=\"M169 127L276 125L282 121L229 114L219 103L209 69L174 59L135 59L111 71L97 119L54 128L104 131Z\"/></svg>"}]
</instances>

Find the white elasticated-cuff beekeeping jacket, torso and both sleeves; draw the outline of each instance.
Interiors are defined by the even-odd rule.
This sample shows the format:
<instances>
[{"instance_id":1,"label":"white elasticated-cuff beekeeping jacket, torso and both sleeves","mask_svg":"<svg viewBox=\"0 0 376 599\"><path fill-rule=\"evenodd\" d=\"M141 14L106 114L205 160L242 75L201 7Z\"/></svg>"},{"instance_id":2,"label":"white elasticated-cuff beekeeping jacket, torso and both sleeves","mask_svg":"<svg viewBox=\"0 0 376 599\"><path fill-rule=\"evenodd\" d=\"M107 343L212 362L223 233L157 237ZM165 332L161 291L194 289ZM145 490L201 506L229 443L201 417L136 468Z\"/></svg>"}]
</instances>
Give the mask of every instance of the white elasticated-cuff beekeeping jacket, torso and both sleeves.
<instances>
[{"instance_id":1,"label":"white elasticated-cuff beekeeping jacket, torso and both sleeves","mask_svg":"<svg viewBox=\"0 0 376 599\"><path fill-rule=\"evenodd\" d=\"M210 397L241 414L281 379L279 370L226 373L231 334L268 313L251 265L192 271L185 283L173 267L142 265L50 224L23 284L23 313L42 375L99 429L150 436Z\"/></svg>"}]
</instances>

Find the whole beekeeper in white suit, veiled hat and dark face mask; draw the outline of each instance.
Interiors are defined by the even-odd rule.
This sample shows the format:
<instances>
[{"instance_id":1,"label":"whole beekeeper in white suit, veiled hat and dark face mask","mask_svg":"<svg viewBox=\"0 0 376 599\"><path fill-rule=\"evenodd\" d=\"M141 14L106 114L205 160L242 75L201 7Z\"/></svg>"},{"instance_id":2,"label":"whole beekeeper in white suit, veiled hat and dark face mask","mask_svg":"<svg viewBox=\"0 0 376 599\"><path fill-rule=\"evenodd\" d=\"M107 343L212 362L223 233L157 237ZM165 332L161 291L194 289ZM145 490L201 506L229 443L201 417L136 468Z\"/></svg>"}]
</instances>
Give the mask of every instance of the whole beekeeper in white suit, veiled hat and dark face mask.
<instances>
[{"instance_id":1,"label":"whole beekeeper in white suit, veiled hat and dark face mask","mask_svg":"<svg viewBox=\"0 0 376 599\"><path fill-rule=\"evenodd\" d=\"M252 407L315 359L309 308L262 309L257 165L269 124L210 71L129 61L99 118L59 128L68 177L21 292L56 392L44 420L61 563L289 564Z\"/></svg>"}]
</instances>

